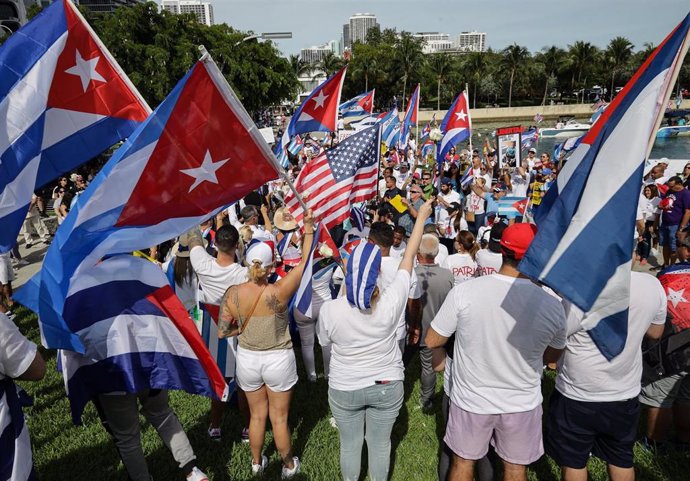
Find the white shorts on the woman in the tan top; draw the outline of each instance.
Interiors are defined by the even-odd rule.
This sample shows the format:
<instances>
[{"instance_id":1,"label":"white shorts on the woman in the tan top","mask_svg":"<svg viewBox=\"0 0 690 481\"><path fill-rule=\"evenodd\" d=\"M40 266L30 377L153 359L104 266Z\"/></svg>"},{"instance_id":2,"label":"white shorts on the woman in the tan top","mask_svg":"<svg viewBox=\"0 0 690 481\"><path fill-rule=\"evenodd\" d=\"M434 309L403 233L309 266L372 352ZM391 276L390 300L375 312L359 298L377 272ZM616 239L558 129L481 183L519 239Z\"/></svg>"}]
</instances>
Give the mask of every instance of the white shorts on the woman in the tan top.
<instances>
[{"instance_id":1,"label":"white shorts on the woman in the tan top","mask_svg":"<svg viewBox=\"0 0 690 481\"><path fill-rule=\"evenodd\" d=\"M250 351L237 346L237 385L256 391L264 384L275 392L289 391L297 384L297 364L292 349Z\"/></svg>"}]
</instances>

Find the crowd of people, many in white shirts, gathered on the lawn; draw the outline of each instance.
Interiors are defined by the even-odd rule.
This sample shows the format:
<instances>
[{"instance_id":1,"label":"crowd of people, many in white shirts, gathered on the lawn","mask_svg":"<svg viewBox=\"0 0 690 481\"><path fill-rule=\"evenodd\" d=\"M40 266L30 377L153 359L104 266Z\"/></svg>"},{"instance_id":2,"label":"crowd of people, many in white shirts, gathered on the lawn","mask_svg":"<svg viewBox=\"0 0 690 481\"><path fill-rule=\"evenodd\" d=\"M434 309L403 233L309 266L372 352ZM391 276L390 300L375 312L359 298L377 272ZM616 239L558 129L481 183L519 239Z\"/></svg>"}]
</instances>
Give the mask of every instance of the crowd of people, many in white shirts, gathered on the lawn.
<instances>
[{"instance_id":1,"label":"crowd of people, many in white shirts, gathered on the lawn","mask_svg":"<svg viewBox=\"0 0 690 481\"><path fill-rule=\"evenodd\" d=\"M289 176L315 154L291 159ZM284 206L289 186L281 180L179 238L137 253L161 264L234 387L252 473L261 475L268 463L263 449L269 420L282 478L301 469L288 423L300 382L297 345L303 382L315 382L321 373L328 380L344 480L359 479L364 442L369 479L388 479L405 367L416 359L419 408L431 414L440 404L446 422L440 480L491 480L499 464L503 479L525 480L527 466L544 452L567 481L587 479L592 455L608 464L612 480L632 480L641 405L649 408L641 446L664 449L674 422L676 445L690 446L685 371L655 375L647 369L643 382L649 361L641 346L656 346L671 329L660 281L632 273L625 348L608 361L581 327L586 314L518 270L537 231L530 220L561 166L548 153L537 156L536 149L520 165L502 166L491 148L453 149L441 168L434 165L415 145L385 152L376 198L353 206L350 219L330 231L343 262L332 259L314 272L309 315L289 306L319 219L307 212L298 225ZM656 165L641 186L634 246L645 264L660 245L661 267L671 268L690 262L684 235L690 229L690 165L680 176L665 170ZM60 178L52 190L58 216L86 186L83 177L73 177ZM506 195L529 199L527 209L501 215ZM36 203L30 224L40 225L40 212ZM28 245L30 234L27 239ZM12 309L12 293L11 279L3 275L4 312ZM0 379L39 379L35 346L8 317L0 315L0 322L0 339L8 346L0 353ZM317 344L322 369L316 366ZM542 380L549 369L557 375L542 425ZM440 372L443 390L437 393ZM129 414L123 414L124 402L113 399L103 395L96 402L130 479L150 479L139 431L132 428L138 421L130 416L137 399L157 428L165 424L159 433L187 479L206 479L165 392L130 396ZM224 408L224 402L211 401L211 440L228 439L221 432Z\"/></svg>"}]
</instances>

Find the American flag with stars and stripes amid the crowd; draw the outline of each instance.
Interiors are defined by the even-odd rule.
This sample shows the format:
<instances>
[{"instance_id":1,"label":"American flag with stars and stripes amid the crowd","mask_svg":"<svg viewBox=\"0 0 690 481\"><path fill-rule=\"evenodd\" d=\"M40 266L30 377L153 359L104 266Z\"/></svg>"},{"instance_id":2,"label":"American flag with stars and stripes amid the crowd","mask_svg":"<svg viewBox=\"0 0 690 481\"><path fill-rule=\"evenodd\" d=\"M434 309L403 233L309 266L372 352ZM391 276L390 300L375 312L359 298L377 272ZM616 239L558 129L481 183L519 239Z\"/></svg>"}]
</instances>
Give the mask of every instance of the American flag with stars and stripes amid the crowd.
<instances>
[{"instance_id":1,"label":"American flag with stars and stripes amid the crowd","mask_svg":"<svg viewBox=\"0 0 690 481\"><path fill-rule=\"evenodd\" d=\"M350 216L356 202L376 195L381 151L381 126L351 135L336 147L312 159L300 172L295 187L327 229ZM285 199L293 217L302 223L303 210L291 192Z\"/></svg>"}]
</instances>

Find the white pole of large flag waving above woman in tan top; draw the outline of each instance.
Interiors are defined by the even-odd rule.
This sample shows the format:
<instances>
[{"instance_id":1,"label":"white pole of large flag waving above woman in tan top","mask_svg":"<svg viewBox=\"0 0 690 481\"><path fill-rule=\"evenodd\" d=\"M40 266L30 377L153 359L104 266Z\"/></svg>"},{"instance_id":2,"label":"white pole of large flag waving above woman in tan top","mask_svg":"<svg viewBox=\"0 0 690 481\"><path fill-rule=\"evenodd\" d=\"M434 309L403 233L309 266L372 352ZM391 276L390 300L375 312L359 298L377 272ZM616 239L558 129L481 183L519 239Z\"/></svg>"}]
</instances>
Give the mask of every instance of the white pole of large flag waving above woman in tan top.
<instances>
[{"instance_id":1,"label":"white pole of large flag waving above woman in tan top","mask_svg":"<svg viewBox=\"0 0 690 481\"><path fill-rule=\"evenodd\" d=\"M297 201L300 203L302 209L304 209L304 212L306 213L308 210L307 204L304 203L304 199L302 199L302 196L299 194L299 192L297 192L295 185L288 178L287 172L285 172L285 169L283 169L283 167L280 165L275 154L268 147L268 144L264 140L263 135L261 135L261 132L259 132L259 129L257 128L256 124L247 113L247 110L244 108L244 105L242 105L242 102L240 102L240 99L237 98L237 95L235 95L235 92L232 90L232 87L230 87L230 84L228 84L228 81L225 79L220 69L218 69L218 65L213 60L213 57L211 57L211 54L208 52L208 50L206 50L206 47L204 47L203 45L199 45L198 48L199 53L201 53L201 58L199 58L199 61L203 62L206 65L207 71L211 76L211 79L214 81L218 89L221 92L223 92L226 101L229 104L231 104L234 107L234 110L237 112L238 120L242 123L244 128L247 129L249 135L251 135L254 138L256 144L263 151L264 155L271 163L271 167L273 167L273 170L276 171L279 177L281 177L285 182L287 182L288 186L295 194ZM287 148L287 146L285 146L285 148Z\"/></svg>"}]
</instances>

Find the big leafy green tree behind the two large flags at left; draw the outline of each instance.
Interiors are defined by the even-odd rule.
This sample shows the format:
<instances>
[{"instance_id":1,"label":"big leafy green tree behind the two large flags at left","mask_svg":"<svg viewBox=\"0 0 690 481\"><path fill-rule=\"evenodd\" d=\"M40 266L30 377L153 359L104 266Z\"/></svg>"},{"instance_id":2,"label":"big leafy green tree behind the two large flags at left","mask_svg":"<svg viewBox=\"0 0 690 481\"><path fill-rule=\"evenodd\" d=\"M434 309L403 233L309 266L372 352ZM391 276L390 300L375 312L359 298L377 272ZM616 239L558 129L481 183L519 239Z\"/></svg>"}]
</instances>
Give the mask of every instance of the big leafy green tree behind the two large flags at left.
<instances>
[{"instance_id":1,"label":"big leafy green tree behind the two large flags at left","mask_svg":"<svg viewBox=\"0 0 690 481\"><path fill-rule=\"evenodd\" d=\"M271 42L242 42L246 32L208 27L194 15L174 15L155 3L87 15L89 23L152 107L199 58L204 45L250 113L293 99L299 82Z\"/></svg>"}]
</instances>

